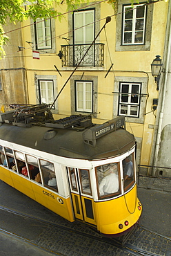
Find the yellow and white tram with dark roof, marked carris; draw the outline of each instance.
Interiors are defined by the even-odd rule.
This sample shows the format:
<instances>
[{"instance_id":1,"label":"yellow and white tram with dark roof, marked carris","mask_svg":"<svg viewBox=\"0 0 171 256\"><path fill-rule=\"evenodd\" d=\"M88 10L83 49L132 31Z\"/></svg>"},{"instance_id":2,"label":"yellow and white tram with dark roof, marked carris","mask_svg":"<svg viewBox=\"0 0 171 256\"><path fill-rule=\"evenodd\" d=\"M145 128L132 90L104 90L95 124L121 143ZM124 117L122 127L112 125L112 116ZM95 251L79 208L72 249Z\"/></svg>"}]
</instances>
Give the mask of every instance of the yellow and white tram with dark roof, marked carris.
<instances>
[{"instance_id":1,"label":"yellow and white tram with dark roof, marked carris","mask_svg":"<svg viewBox=\"0 0 171 256\"><path fill-rule=\"evenodd\" d=\"M0 113L0 179L103 235L123 235L141 216L134 151L121 116L54 120L46 104Z\"/></svg>"}]
</instances>

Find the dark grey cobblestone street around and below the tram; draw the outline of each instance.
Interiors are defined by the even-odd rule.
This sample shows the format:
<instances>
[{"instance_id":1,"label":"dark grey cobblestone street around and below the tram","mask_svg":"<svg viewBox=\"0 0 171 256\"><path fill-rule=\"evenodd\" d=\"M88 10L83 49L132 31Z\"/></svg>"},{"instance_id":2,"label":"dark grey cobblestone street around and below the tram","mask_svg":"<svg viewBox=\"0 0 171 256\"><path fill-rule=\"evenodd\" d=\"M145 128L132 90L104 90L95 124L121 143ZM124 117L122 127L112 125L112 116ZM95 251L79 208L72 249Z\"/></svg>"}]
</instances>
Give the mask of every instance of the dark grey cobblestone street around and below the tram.
<instances>
[{"instance_id":1,"label":"dark grey cobblestone street around and below the tram","mask_svg":"<svg viewBox=\"0 0 171 256\"><path fill-rule=\"evenodd\" d=\"M66 256L130 255L125 250L108 244L103 239L101 240L101 235L86 227L83 223L70 223L17 190L14 190L6 185L6 183L0 181L0 185L0 203L4 207L63 226L63 229L60 229L55 226L52 227L48 223L47 225L36 222L31 222L30 224L30 221L26 220L26 218L12 218L10 213L4 214L0 210L1 228L8 228L9 231L16 232L25 239L32 241L32 244L28 244L27 241L22 241L21 239L17 239L17 237L11 237L11 235L0 232L0 255L9 255L9 250L10 256L23 256L23 251L25 256L54 254ZM146 182L145 185L148 185L148 183ZM171 193L142 188L142 182L140 183L140 187L138 188L138 195L143 205L140 228L132 232L126 245L131 245L132 248L147 250L149 253L154 253L155 255L170 256L171 241L160 235L171 236ZM165 189L167 189L166 187ZM148 228L152 232L145 230L145 228ZM81 232L85 233L85 236L81 235ZM91 236L97 237L97 239L92 239ZM37 244L39 247L34 246L34 244ZM46 248L48 251L42 248Z\"/></svg>"}]
</instances>

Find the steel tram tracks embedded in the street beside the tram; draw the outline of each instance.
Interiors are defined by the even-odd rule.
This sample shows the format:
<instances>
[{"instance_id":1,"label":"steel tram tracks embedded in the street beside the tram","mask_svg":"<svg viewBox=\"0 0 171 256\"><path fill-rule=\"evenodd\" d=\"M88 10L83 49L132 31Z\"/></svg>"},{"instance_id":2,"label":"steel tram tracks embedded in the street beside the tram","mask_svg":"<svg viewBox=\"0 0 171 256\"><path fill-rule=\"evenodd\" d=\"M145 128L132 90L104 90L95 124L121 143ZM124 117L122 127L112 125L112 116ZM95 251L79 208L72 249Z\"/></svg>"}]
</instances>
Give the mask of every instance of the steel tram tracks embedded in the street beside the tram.
<instances>
[{"instance_id":1,"label":"steel tram tracks embedded in the street beside the tram","mask_svg":"<svg viewBox=\"0 0 171 256\"><path fill-rule=\"evenodd\" d=\"M14 214L14 215L17 215L19 217L29 219L30 221L36 221L37 223L39 222L39 223L43 224L43 226L50 227L50 229L58 228L58 229L61 229L61 230L65 230L66 232L72 232L72 234L75 234L75 235L81 235L82 237L88 237L91 240L96 240L96 241L100 241L101 243L109 244L110 246L114 246L115 248L118 248L118 249L122 250L125 253L125 255L136 255L136 256L142 256L142 255L143 256L145 256L145 255L159 256L159 255L161 255L159 253L158 254L157 253L152 253L152 250L151 251L150 250L149 251L144 250L143 248L137 246L136 243L131 243L131 239L134 239L133 237L129 237L128 241L126 241L125 244L122 244L121 239L112 239L112 238L103 237L100 233L98 233L94 229L91 229L92 234L90 234L88 232L82 232L82 231L79 231L77 229L70 228L68 226L60 225L58 223L53 223L52 221L47 221L45 219L32 217L28 214L23 214L21 212L11 210L11 209L5 208L3 206L0 206L0 210L5 211L5 212L9 212L10 214ZM61 253L59 253L57 251L54 251L54 250L53 251L49 250L47 247L44 247L44 246L39 246L39 243L34 243L30 239L26 239L26 238L23 238L20 235L14 234L14 232L9 232L8 230L4 230L3 228L0 228L0 231L1 232L6 232L8 235L12 235L14 237L17 237L18 239L22 239L23 241L26 241L30 244L34 244L34 246L38 246L39 248L41 248L43 250L47 250L48 252L53 253L55 255L63 255L64 256L64 254L61 254ZM93 234L93 231L94 231L94 234ZM139 226L137 228L137 232L139 233L139 235L146 232L146 235L145 235L146 238L148 238L149 234L153 234L154 236L157 236L158 239L159 239L159 237L161 237L161 239L165 239L165 241L167 241L165 244L170 243L170 241L171 241L171 239L169 237L159 235L156 232L148 230L147 228L142 227L142 226ZM148 235L147 235L147 233L148 233ZM135 236L138 237L137 234L135 234Z\"/></svg>"}]
</instances>

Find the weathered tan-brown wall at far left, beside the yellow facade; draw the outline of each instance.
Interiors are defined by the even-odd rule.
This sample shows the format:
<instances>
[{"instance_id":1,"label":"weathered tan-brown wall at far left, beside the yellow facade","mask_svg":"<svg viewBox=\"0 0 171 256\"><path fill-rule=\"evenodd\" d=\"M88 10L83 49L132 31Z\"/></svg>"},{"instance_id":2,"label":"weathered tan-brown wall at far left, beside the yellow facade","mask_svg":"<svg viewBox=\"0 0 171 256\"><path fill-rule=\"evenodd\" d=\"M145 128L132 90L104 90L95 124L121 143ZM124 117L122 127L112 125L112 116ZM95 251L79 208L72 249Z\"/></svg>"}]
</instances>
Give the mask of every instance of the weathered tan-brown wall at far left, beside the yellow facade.
<instances>
[{"instance_id":1,"label":"weathered tan-brown wall at far left, beside the yellow facade","mask_svg":"<svg viewBox=\"0 0 171 256\"><path fill-rule=\"evenodd\" d=\"M22 46L21 24L8 24L4 27L8 33L8 46L5 46L6 57L0 60L0 109L2 106L9 110L9 104L27 102L27 74L23 61L23 51L19 52L18 46ZM17 30L17 33L15 32Z\"/></svg>"}]
</instances>

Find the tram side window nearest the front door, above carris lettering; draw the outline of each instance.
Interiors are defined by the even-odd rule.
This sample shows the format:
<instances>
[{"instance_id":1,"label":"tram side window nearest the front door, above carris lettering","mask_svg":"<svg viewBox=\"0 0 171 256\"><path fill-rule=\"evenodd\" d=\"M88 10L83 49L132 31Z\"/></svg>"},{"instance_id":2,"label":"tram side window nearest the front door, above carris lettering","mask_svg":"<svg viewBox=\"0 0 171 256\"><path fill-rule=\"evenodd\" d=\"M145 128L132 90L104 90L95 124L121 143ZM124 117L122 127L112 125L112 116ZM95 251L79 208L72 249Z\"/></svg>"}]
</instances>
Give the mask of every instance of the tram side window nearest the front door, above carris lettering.
<instances>
[{"instance_id":1,"label":"tram side window nearest the front door, above carris lettering","mask_svg":"<svg viewBox=\"0 0 171 256\"><path fill-rule=\"evenodd\" d=\"M45 160L40 159L41 172L43 176L43 183L47 188L58 192L57 178L54 172L54 165Z\"/></svg>"}]
</instances>

